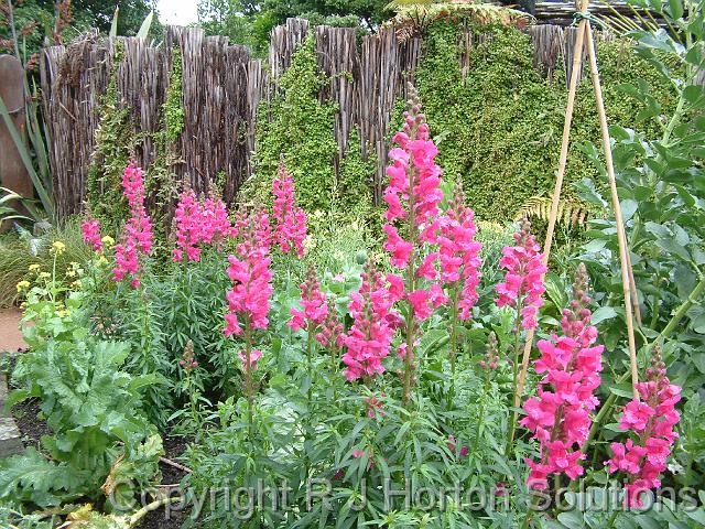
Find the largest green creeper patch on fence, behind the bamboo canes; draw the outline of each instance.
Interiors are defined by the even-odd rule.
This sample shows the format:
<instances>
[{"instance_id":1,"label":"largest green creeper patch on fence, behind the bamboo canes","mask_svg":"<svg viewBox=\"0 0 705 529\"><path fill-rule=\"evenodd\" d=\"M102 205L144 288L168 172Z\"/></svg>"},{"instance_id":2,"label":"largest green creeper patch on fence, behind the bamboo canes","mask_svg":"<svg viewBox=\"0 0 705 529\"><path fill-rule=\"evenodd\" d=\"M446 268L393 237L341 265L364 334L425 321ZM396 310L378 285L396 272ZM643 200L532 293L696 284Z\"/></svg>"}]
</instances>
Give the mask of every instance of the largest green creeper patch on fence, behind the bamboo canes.
<instances>
[{"instance_id":1,"label":"largest green creeper patch on fence, behind the bamboo canes","mask_svg":"<svg viewBox=\"0 0 705 529\"><path fill-rule=\"evenodd\" d=\"M463 77L458 63L457 23L433 23L423 39L416 83L432 133L438 139L440 163L447 177L459 179L479 217L501 220L532 196L553 191L564 108L567 98L563 68L552 80L533 68L529 35L513 28L476 29L491 37L474 46ZM600 42L598 61L605 102L611 122L636 123L638 107L619 93L620 83L650 79L661 104L672 93L628 42ZM657 122L641 123L653 131ZM570 182L596 176L579 145L599 139L595 99L588 78L579 86L566 171Z\"/></svg>"}]
</instances>

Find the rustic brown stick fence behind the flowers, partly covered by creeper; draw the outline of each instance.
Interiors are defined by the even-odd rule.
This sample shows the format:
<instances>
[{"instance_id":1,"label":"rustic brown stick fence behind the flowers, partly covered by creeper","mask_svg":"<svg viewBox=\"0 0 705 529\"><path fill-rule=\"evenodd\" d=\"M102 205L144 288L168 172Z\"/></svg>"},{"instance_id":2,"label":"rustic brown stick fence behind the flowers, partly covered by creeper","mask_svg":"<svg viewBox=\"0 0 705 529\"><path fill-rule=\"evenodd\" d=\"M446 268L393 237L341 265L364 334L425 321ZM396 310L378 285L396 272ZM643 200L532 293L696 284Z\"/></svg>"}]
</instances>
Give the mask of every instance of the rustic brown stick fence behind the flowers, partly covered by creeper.
<instances>
[{"instance_id":1,"label":"rustic brown stick fence behind the flowers, partly covered by creeper","mask_svg":"<svg viewBox=\"0 0 705 529\"><path fill-rule=\"evenodd\" d=\"M338 152L330 162L337 175L350 132L357 128L362 156L377 156L371 185L380 201L390 120L397 98L405 95L405 82L413 79L421 37L400 42L392 28L382 28L359 43L354 29L321 25L312 30L307 21L290 19L273 30L267 62L252 58L245 46L230 45L227 37L178 26L166 28L161 46L137 37L108 40L93 33L66 46L45 48L41 83L59 218L78 212L85 196L100 100L118 41L122 43L122 61L115 68L119 105L129 108L134 133L143 138L134 152L138 163L149 166L155 159L150 133L159 130L172 51L178 48L184 130L174 145L178 160L174 172L196 190L204 190L224 173L225 195L231 201L252 174L260 104L274 95L275 79L310 31L314 31L319 68L330 76L321 97L338 106L334 130ZM534 46L534 66L549 77L562 67L570 78L576 30L546 24L527 31ZM469 48L481 37L466 30L460 42ZM459 53L458 61L467 71L468 54Z\"/></svg>"}]
</instances>

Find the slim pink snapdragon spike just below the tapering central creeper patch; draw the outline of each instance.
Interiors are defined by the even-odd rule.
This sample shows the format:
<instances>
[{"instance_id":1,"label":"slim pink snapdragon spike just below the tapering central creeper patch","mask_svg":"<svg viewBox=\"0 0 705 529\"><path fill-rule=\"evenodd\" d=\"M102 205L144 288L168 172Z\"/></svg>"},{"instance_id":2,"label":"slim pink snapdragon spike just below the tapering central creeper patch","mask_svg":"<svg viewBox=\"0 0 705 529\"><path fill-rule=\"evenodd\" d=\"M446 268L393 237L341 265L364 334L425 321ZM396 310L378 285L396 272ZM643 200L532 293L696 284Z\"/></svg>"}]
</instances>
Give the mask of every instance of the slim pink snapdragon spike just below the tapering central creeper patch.
<instances>
[{"instance_id":1,"label":"slim pink snapdragon spike just below the tapering central creeper patch","mask_svg":"<svg viewBox=\"0 0 705 529\"><path fill-rule=\"evenodd\" d=\"M296 250L301 258L304 256L304 239L306 238L306 214L296 206L294 201L294 180L286 172L283 163L279 165L276 177L272 181L274 204L274 242L279 249L289 253Z\"/></svg>"}]
</instances>

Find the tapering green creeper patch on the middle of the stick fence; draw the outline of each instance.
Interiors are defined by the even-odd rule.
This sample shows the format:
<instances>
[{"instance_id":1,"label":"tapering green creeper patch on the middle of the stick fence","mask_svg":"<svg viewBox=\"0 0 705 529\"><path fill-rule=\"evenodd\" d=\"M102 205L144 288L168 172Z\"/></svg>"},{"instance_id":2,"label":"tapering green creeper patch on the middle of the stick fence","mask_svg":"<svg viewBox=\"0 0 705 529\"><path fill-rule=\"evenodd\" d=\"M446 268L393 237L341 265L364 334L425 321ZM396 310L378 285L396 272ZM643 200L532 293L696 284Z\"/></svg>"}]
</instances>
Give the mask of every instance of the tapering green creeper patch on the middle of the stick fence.
<instances>
[{"instance_id":1,"label":"tapering green creeper patch on the middle of the stick fence","mask_svg":"<svg viewBox=\"0 0 705 529\"><path fill-rule=\"evenodd\" d=\"M375 160L361 159L359 136L355 131L339 179L335 176L337 106L329 100L318 100L319 90L328 82L317 69L314 40L308 35L279 79L276 96L259 108L254 171L240 191L242 202L271 204L271 182L283 159L294 177L297 203L312 220L319 217L314 216L316 212L335 212L338 219L345 220L369 214Z\"/></svg>"}]
</instances>

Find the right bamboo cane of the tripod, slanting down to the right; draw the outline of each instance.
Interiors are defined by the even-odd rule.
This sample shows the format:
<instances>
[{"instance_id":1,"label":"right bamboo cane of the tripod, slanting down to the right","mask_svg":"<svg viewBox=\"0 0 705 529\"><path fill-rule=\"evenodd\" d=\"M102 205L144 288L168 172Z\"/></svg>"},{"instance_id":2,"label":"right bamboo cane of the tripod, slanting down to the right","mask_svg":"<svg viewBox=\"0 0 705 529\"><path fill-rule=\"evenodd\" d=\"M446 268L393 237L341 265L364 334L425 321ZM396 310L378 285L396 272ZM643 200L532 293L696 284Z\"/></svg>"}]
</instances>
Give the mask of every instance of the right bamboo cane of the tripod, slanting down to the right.
<instances>
[{"instance_id":1,"label":"right bamboo cane of the tripod, slanting down to the right","mask_svg":"<svg viewBox=\"0 0 705 529\"><path fill-rule=\"evenodd\" d=\"M630 269L629 248L627 248L627 231L625 229L623 218L621 216L621 206L619 205L619 195L617 193L617 181L615 179L615 165L612 163L612 150L609 143L609 129L607 127L607 114L605 112L605 102L603 100L603 87L599 82L599 71L597 68L597 56L593 46L593 29L589 24L586 26L587 35L587 56L590 63L590 75L593 77L593 89L595 90L595 102L597 104L597 116L599 118L599 128L603 136L603 149L605 150L605 165L607 169L607 180L609 181L609 190L612 197L612 208L615 209L615 223L617 224L617 241L619 244L619 259L621 263L621 284L625 291L625 316L627 319L627 338L629 339L629 361L631 364L631 384L634 398L639 398L637 382L639 381L639 371L637 367L637 343L634 339L634 324L632 320L631 305L631 282L633 281ZM634 292L636 294L636 292Z\"/></svg>"}]
</instances>

